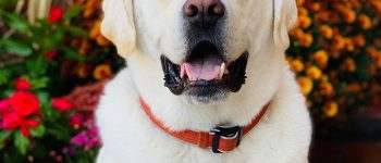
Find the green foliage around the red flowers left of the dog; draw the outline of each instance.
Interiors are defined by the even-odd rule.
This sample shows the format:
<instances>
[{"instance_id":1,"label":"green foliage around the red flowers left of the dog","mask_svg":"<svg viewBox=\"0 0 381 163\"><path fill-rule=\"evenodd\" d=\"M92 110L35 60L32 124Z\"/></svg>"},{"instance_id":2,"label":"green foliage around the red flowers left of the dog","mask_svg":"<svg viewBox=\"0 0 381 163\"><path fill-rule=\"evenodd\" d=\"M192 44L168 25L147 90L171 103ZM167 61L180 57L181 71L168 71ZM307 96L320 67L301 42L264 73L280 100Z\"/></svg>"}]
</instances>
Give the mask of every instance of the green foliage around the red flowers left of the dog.
<instances>
[{"instance_id":1,"label":"green foliage around the red flowers left of the dog","mask_svg":"<svg viewBox=\"0 0 381 163\"><path fill-rule=\"evenodd\" d=\"M0 0L0 101L19 91L14 84L23 78L30 84L28 91L37 97L40 113L30 117L39 122L36 128L28 128L30 137L23 135L20 128L0 128L0 162L27 162L30 155L36 162L56 162L49 152L69 148L70 139L79 131L69 122L75 111L63 113L51 106L53 97L61 97L71 89L61 85L66 82L60 74L60 65L63 62L94 62L95 58L79 54L77 47L70 43L71 39L88 37L84 28L71 24L81 14L81 5L70 8L58 22L37 20L30 25L23 12L12 11L15 2ZM94 161L96 149L77 148L75 151L75 154L62 155L63 159L67 162Z\"/></svg>"}]
</instances>

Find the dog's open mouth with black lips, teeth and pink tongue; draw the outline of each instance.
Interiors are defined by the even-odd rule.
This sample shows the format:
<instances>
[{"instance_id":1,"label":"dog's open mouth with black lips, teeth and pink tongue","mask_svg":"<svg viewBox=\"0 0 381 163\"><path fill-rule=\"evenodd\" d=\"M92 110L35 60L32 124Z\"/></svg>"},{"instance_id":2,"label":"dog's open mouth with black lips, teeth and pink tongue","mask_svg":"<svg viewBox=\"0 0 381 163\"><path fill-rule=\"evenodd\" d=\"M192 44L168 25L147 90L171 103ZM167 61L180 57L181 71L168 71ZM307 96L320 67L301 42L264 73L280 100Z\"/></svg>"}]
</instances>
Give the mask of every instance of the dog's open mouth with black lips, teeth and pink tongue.
<instances>
[{"instance_id":1,"label":"dog's open mouth with black lips, teeth and pink tongue","mask_svg":"<svg viewBox=\"0 0 381 163\"><path fill-rule=\"evenodd\" d=\"M248 53L245 52L229 63L214 45L201 41L181 64L172 63L165 55L161 57L164 85L177 96L198 90L202 95L221 89L237 92L245 84L247 60Z\"/></svg>"}]
</instances>

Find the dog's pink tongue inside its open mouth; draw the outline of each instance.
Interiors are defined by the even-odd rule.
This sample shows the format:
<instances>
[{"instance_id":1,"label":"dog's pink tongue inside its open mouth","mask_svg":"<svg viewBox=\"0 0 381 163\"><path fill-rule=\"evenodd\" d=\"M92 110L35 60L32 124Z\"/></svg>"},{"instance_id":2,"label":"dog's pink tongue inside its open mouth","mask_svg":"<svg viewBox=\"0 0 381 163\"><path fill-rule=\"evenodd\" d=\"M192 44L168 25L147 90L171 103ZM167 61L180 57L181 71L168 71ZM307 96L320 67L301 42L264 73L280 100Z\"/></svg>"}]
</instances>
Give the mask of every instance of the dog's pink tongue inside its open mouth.
<instances>
[{"instance_id":1,"label":"dog's pink tongue inside its open mouth","mask_svg":"<svg viewBox=\"0 0 381 163\"><path fill-rule=\"evenodd\" d=\"M212 80L219 76L222 61L216 58L206 58L201 61L185 62L182 66L192 79Z\"/></svg>"}]
</instances>

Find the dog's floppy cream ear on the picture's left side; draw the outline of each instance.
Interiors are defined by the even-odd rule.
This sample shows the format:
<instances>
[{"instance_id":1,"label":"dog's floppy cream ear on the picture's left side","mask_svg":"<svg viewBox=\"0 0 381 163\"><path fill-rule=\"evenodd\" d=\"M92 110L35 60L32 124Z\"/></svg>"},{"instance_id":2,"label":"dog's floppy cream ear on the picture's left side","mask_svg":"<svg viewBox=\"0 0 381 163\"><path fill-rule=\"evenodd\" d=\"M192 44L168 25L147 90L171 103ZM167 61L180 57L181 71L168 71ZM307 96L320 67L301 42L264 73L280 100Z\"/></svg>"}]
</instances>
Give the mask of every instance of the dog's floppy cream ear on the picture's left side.
<instances>
[{"instance_id":1,"label":"dog's floppy cream ear on the picture's left side","mask_svg":"<svg viewBox=\"0 0 381 163\"><path fill-rule=\"evenodd\" d=\"M127 58L136 45L133 0L103 0L102 5L101 33L116 46L120 55Z\"/></svg>"}]
</instances>

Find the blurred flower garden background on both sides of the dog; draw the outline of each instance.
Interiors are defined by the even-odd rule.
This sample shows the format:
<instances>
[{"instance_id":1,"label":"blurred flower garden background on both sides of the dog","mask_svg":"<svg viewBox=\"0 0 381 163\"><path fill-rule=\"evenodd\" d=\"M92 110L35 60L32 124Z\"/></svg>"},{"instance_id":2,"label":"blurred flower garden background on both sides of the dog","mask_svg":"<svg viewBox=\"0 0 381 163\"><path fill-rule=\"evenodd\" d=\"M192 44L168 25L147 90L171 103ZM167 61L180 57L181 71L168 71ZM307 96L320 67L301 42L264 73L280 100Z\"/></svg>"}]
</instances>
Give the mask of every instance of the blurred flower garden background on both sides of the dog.
<instances>
[{"instance_id":1,"label":"blurred flower garden background on both sides of the dog","mask_svg":"<svg viewBox=\"0 0 381 163\"><path fill-rule=\"evenodd\" d=\"M286 61L314 118L312 163L381 162L381 0L296 0ZM0 162L94 162L103 85L125 67L100 0L0 0Z\"/></svg>"}]
</instances>

